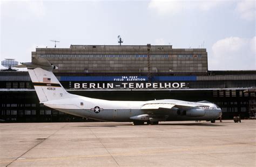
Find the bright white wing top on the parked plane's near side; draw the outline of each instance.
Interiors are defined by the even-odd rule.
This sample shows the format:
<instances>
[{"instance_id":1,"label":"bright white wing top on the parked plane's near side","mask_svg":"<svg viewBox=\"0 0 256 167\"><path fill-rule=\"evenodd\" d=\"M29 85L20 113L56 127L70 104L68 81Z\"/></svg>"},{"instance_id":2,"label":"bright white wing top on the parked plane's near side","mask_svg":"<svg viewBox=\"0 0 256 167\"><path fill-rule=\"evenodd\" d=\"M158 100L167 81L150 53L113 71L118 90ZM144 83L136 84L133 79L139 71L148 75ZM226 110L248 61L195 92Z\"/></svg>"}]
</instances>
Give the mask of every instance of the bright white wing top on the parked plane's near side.
<instances>
[{"instance_id":1,"label":"bright white wing top on the parked plane's near side","mask_svg":"<svg viewBox=\"0 0 256 167\"><path fill-rule=\"evenodd\" d=\"M195 108L195 107L208 107L205 105L201 105L199 103L179 103L179 104L174 104L174 103L146 103L145 105L142 106L141 109L150 109L150 110L154 110L154 109L172 109L173 107L175 108L179 108L179 109L191 109L191 108Z\"/></svg>"}]
</instances>

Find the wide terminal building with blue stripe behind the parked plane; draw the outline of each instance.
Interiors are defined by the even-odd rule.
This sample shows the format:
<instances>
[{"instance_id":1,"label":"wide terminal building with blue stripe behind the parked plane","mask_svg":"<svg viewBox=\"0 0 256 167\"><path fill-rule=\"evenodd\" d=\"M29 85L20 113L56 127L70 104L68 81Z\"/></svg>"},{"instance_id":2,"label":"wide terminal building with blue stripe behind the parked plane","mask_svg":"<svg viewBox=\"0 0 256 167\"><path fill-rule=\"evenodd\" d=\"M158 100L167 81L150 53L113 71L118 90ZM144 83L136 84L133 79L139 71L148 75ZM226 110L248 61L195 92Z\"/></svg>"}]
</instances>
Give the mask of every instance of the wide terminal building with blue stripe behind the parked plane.
<instances>
[{"instance_id":1,"label":"wide terminal building with blue stripe behind the parked plane","mask_svg":"<svg viewBox=\"0 0 256 167\"><path fill-rule=\"evenodd\" d=\"M58 67L66 91L106 100L211 101L224 119L254 118L256 71L208 71L205 48L171 45L71 45L36 48ZM28 72L0 72L0 119L7 122L89 121L39 103Z\"/></svg>"}]
</instances>

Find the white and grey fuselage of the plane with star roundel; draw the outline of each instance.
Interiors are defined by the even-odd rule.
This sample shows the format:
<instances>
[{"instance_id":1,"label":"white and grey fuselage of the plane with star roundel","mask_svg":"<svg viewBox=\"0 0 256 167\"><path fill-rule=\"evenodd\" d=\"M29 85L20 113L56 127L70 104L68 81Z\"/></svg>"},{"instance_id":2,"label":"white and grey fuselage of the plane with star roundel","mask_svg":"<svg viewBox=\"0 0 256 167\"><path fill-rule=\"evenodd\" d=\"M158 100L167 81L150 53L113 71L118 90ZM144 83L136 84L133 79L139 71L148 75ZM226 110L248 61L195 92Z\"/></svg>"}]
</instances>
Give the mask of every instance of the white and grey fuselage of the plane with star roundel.
<instances>
[{"instance_id":1,"label":"white and grey fuselage of the plane with star roundel","mask_svg":"<svg viewBox=\"0 0 256 167\"><path fill-rule=\"evenodd\" d=\"M221 109L213 103L207 103L209 107L193 109L161 109L143 110L146 103L191 103L180 100L153 100L153 101L108 101L100 99L77 98L47 101L45 106L59 110L60 112L86 117L89 119L116 122L132 122L138 119L135 116L144 116L145 122L148 117L151 121L188 121L188 120L215 120L221 116ZM204 103L200 103L205 105ZM149 115L149 116L147 116ZM132 117L132 119L131 119ZM133 117L135 117L133 119ZM153 120L152 120L153 119ZM137 120L137 121L143 121Z\"/></svg>"}]
</instances>

